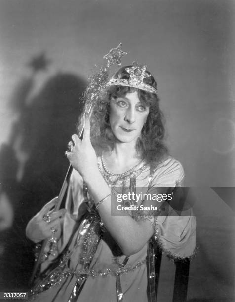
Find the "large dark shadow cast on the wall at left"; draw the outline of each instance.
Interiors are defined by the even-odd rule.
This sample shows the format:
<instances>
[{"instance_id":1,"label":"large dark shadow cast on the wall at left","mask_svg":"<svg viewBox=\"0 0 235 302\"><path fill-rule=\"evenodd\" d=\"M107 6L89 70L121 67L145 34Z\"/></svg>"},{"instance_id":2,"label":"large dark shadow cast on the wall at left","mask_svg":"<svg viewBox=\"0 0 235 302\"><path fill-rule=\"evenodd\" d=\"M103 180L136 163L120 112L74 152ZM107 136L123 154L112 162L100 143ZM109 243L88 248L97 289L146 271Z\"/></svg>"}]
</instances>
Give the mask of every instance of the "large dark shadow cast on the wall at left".
<instances>
[{"instance_id":1,"label":"large dark shadow cast on the wall at left","mask_svg":"<svg viewBox=\"0 0 235 302\"><path fill-rule=\"evenodd\" d=\"M69 166L67 143L76 133L87 84L76 75L59 73L29 99L39 69L34 66L33 75L15 90L17 119L0 150L0 291L27 289L34 259L25 227L59 194Z\"/></svg>"}]
</instances>

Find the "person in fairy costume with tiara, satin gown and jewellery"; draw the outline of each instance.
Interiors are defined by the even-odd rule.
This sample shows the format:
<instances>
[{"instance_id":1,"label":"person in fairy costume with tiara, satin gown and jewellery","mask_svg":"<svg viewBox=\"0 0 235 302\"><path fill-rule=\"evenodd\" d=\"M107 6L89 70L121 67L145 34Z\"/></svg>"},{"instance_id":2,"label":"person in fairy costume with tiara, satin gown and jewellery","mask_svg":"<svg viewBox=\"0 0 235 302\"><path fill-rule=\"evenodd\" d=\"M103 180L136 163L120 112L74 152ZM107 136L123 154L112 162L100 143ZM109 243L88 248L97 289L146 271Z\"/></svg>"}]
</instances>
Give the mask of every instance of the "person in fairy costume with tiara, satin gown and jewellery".
<instances>
[{"instance_id":1,"label":"person in fairy costume with tiara, satin gown and jewellery","mask_svg":"<svg viewBox=\"0 0 235 302\"><path fill-rule=\"evenodd\" d=\"M147 302L148 241L174 259L193 255L196 219L190 208L182 215L166 201L162 214L162 200L117 201L139 188L172 200L184 170L163 138L154 77L137 63L122 67L91 118L85 114L83 138L74 134L69 143L74 170L65 209L53 211L55 198L27 226L35 243L48 239L32 300ZM125 208L130 205L136 207Z\"/></svg>"}]
</instances>

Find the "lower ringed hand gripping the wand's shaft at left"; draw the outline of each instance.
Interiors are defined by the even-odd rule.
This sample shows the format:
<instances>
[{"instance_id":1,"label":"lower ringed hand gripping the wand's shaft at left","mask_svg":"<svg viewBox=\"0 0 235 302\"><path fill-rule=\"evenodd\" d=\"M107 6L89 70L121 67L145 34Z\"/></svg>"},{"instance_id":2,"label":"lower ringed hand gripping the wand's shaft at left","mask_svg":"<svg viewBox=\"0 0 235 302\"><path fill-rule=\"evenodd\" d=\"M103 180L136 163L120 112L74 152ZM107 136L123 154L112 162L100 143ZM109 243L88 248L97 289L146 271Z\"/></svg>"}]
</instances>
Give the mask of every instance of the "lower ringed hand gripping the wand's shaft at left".
<instances>
[{"instance_id":1,"label":"lower ringed hand gripping the wand's shaft at left","mask_svg":"<svg viewBox=\"0 0 235 302\"><path fill-rule=\"evenodd\" d=\"M26 236L36 242L50 238L52 235L54 237L60 236L61 223L64 220L64 215L67 212L66 209L61 209L59 211L53 211L55 204L57 203L58 197L53 198L36 214L28 223L26 227ZM43 220L45 215L50 216L50 222ZM52 233L54 229L55 232Z\"/></svg>"}]
</instances>

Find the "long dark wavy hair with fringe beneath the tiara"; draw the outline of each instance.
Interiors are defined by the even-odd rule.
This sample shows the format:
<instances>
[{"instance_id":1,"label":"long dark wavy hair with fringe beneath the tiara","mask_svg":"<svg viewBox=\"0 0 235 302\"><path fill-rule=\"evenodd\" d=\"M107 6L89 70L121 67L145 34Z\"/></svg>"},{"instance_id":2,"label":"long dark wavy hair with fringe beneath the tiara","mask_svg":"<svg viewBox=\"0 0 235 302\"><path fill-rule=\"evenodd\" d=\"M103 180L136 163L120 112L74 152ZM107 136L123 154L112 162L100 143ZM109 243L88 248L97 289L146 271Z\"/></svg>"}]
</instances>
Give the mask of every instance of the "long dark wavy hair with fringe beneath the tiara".
<instances>
[{"instance_id":1,"label":"long dark wavy hair with fringe beneath the tiara","mask_svg":"<svg viewBox=\"0 0 235 302\"><path fill-rule=\"evenodd\" d=\"M124 66L115 73L113 78L129 79L129 73ZM146 71L150 76L144 78L144 82L157 89L157 83L154 77ZM109 123L110 101L112 98L125 96L127 93L137 91L139 99L149 106L149 115L142 129L142 135L136 142L137 155L141 159L145 159L148 164L156 166L168 153L164 144L164 125L163 114L159 109L159 98L156 94L144 90L125 87L125 86L109 86L100 100L94 107L93 114L90 119L91 143L97 153L101 155L104 150L112 150L116 138L111 130Z\"/></svg>"}]
</instances>

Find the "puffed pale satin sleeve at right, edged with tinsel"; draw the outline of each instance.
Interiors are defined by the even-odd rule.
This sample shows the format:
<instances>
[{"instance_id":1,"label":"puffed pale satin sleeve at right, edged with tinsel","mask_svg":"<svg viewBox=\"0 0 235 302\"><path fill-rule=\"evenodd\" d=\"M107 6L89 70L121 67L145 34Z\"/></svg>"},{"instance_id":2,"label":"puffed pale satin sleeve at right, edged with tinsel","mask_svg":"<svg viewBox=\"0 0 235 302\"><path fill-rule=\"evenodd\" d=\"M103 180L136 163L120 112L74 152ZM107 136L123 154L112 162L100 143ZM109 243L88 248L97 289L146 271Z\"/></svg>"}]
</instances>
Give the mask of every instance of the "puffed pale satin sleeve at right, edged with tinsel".
<instances>
[{"instance_id":1,"label":"puffed pale satin sleeve at right, edged with tinsel","mask_svg":"<svg viewBox=\"0 0 235 302\"><path fill-rule=\"evenodd\" d=\"M184 183L184 169L179 161L170 158L158 167L153 175L149 186L149 192L162 191L165 193L178 193ZM174 195L172 195L174 196ZM177 198L174 196L177 203ZM166 202L167 211L155 213L151 218L154 227L154 240L160 248L172 258L185 258L194 254L196 247L196 218L192 208L184 204L181 211L177 211L174 203ZM159 208L158 203L158 208ZM161 209L161 207L160 207Z\"/></svg>"}]
</instances>

